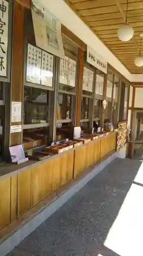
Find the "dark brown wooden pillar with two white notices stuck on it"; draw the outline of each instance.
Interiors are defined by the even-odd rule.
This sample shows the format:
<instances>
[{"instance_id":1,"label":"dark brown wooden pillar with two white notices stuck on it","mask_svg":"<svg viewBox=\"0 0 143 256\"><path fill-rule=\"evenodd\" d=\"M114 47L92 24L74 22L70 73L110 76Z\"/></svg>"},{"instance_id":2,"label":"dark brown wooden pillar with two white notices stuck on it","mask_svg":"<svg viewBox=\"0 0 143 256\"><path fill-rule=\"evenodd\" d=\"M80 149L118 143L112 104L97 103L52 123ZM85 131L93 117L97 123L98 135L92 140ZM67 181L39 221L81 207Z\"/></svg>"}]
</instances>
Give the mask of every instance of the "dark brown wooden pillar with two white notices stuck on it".
<instances>
[{"instance_id":1,"label":"dark brown wooden pillar with two white notices stuck on it","mask_svg":"<svg viewBox=\"0 0 143 256\"><path fill-rule=\"evenodd\" d=\"M22 102L23 95L23 41L24 41L24 7L14 1L14 24L13 24L13 54L12 54L12 80L11 80L11 102ZM22 103L21 103L22 105ZM21 110L22 112L22 110ZM11 125L22 124L11 122ZM10 145L22 143L22 132L11 133Z\"/></svg>"}]
</instances>

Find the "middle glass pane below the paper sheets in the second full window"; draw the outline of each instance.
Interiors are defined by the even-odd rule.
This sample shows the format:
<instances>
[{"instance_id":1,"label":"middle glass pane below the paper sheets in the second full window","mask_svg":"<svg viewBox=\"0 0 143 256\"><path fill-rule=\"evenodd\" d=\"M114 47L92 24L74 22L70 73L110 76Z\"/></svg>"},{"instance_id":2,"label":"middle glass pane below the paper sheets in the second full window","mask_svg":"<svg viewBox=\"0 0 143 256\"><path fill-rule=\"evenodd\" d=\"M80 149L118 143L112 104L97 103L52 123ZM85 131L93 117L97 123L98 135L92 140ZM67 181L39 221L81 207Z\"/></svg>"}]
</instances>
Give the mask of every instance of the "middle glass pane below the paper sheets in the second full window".
<instances>
[{"instance_id":1,"label":"middle glass pane below the paper sheets in the second full window","mask_svg":"<svg viewBox=\"0 0 143 256\"><path fill-rule=\"evenodd\" d=\"M57 108L57 119L71 119L72 96L66 93L59 93Z\"/></svg>"}]
</instances>

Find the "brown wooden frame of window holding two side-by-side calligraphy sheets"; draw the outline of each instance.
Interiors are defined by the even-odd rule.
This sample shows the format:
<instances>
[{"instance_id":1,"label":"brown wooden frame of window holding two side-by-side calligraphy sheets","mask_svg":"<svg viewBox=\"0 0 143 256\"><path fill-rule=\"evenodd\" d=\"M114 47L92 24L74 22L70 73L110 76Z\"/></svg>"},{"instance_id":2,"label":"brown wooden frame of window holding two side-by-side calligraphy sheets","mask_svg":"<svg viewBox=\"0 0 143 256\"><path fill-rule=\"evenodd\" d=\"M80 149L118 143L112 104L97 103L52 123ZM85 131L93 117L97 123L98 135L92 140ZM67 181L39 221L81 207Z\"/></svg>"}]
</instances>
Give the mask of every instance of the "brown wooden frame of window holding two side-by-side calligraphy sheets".
<instances>
[{"instance_id":1,"label":"brown wooden frame of window holding two side-by-side calligraphy sheets","mask_svg":"<svg viewBox=\"0 0 143 256\"><path fill-rule=\"evenodd\" d=\"M27 25L28 25L28 30L27 30ZM33 31L33 37L29 36L29 31ZM33 21L32 21L32 16L30 10L26 10L24 14L24 46L23 46L23 95L22 95L22 137L23 137L23 131L30 130L30 129L39 129L39 128L44 128L44 127L49 127L49 133L48 137L49 140L47 140L47 144L49 141L53 141L54 139L54 123L55 123L55 109L54 109L54 102L55 102L55 96L56 95L56 87L57 87L57 56L53 55L53 77L52 77L52 88L43 86L42 84L37 84L37 83L31 83L26 81L26 63L27 63L27 47L28 44L33 45L34 47L44 51L40 47L36 46L35 42L35 37L34 37L34 28L33 28ZM46 52L46 51L45 51ZM42 61L42 59L41 59ZM29 87L29 88L37 88L37 89L42 89L49 91L49 108L48 108L48 122L46 123L34 123L34 124L24 124L23 123L23 110L24 110L24 86Z\"/></svg>"}]
</instances>

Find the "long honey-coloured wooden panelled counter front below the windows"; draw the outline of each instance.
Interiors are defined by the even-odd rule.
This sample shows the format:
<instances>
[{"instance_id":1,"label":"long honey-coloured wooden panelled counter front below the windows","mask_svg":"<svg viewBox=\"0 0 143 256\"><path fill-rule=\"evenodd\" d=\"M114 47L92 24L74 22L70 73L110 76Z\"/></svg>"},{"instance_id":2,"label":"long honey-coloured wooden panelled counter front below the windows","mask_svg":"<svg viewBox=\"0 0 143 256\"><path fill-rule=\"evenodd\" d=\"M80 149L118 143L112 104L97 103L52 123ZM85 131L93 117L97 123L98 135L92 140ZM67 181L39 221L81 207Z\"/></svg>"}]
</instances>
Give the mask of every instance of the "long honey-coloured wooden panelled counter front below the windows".
<instances>
[{"instance_id":1,"label":"long honey-coloured wooden panelled counter front below the windows","mask_svg":"<svg viewBox=\"0 0 143 256\"><path fill-rule=\"evenodd\" d=\"M0 165L0 229L115 148L116 133L110 133L48 160Z\"/></svg>"}]
</instances>

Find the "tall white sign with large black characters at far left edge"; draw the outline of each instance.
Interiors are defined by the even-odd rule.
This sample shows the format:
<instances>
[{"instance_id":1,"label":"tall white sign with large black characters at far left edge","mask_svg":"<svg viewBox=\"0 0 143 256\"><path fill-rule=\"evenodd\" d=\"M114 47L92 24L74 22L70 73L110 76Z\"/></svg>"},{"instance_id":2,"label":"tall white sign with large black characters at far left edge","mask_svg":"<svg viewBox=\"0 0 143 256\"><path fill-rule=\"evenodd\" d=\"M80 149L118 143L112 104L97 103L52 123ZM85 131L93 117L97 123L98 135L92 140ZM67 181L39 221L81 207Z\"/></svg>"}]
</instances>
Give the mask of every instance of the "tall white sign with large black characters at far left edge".
<instances>
[{"instance_id":1,"label":"tall white sign with large black characters at far left edge","mask_svg":"<svg viewBox=\"0 0 143 256\"><path fill-rule=\"evenodd\" d=\"M9 3L0 0L0 76L7 76Z\"/></svg>"}]
</instances>

